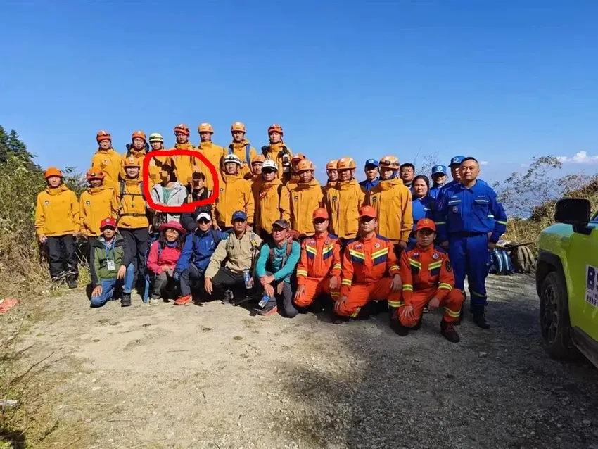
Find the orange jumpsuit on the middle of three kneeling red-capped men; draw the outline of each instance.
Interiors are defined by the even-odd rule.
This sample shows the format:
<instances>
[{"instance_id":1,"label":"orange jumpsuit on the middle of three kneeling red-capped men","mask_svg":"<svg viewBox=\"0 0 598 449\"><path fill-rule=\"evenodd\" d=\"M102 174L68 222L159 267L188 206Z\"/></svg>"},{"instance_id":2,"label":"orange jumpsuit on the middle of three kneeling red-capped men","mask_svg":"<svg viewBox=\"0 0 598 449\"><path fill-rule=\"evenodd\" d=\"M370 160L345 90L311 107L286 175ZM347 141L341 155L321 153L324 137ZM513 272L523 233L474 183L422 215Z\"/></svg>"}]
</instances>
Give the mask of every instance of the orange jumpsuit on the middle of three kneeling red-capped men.
<instances>
[{"instance_id":1,"label":"orange jumpsuit on the middle of three kneeling red-capped men","mask_svg":"<svg viewBox=\"0 0 598 449\"><path fill-rule=\"evenodd\" d=\"M336 312L345 317L357 317L360 309L371 301L398 303L400 291L392 291L395 274L400 269L393 244L383 236L364 237L345 246L341 296L347 301Z\"/></svg>"}]
</instances>

